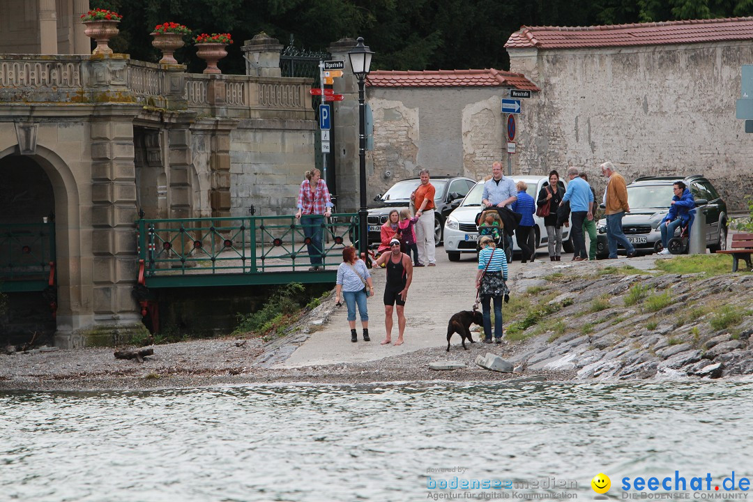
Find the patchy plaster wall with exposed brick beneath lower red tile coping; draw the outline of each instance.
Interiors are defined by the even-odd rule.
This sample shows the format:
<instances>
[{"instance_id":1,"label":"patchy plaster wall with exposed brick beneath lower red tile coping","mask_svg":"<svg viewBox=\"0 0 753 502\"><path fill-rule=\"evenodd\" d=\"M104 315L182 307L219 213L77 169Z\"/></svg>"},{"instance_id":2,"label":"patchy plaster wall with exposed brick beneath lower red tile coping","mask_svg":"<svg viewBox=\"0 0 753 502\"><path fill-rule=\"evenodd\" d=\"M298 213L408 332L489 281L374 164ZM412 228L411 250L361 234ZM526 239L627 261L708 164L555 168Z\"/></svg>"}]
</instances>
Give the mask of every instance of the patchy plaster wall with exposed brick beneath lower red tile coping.
<instances>
[{"instance_id":1,"label":"patchy plaster wall with exposed brick beneath lower red tile coping","mask_svg":"<svg viewBox=\"0 0 753 502\"><path fill-rule=\"evenodd\" d=\"M490 172L503 156L500 99L506 93L503 87L368 88L374 121L369 196L422 168L472 178Z\"/></svg>"}]
</instances>

